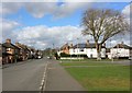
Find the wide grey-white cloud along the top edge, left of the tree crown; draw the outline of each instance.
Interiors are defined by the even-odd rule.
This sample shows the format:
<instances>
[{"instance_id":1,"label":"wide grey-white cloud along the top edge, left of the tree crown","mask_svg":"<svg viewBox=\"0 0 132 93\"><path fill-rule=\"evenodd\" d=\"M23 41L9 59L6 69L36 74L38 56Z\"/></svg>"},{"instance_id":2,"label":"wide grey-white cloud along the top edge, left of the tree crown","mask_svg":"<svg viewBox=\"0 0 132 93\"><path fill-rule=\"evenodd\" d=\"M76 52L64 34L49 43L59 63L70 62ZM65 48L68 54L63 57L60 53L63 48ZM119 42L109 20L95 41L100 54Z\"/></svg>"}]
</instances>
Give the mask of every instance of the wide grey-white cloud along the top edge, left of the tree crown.
<instances>
[{"instance_id":1,"label":"wide grey-white cloud along the top edge, left of the tree crown","mask_svg":"<svg viewBox=\"0 0 132 93\"><path fill-rule=\"evenodd\" d=\"M90 7L90 3L87 2L63 2L63 4L58 5L57 2L30 2L25 3L26 10L34 18L43 18L45 14L52 14L54 18L64 18L77 9Z\"/></svg>"}]
</instances>

